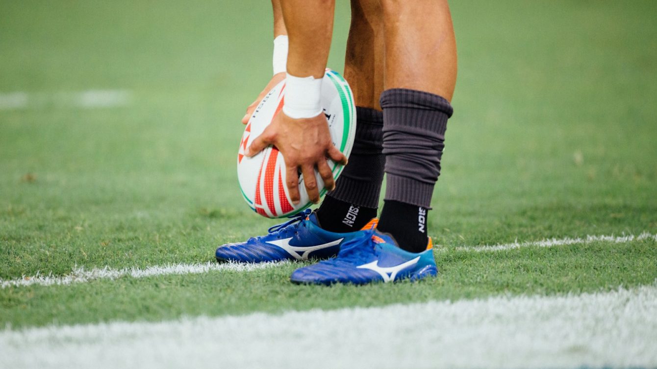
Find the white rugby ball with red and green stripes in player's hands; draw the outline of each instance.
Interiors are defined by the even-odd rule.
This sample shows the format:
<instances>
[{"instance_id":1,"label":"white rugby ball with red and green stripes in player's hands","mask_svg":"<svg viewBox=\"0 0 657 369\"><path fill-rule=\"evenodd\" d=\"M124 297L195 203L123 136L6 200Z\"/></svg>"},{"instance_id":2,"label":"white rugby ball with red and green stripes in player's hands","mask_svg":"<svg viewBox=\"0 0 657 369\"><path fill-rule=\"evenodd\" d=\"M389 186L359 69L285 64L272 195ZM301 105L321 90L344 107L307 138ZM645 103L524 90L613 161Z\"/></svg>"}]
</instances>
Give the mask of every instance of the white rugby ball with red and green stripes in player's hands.
<instances>
[{"instance_id":1,"label":"white rugby ball with red and green stripes in player's hands","mask_svg":"<svg viewBox=\"0 0 657 369\"><path fill-rule=\"evenodd\" d=\"M260 136L275 115L281 112L284 98L285 81L283 80L265 95L254 110L242 134L237 153L237 178L242 197L254 212L267 218L291 216L312 204L301 173L299 174L301 201L297 205L292 204L285 185L285 161L276 147L268 146L254 157L244 156L246 148ZM349 157L356 129L356 109L351 88L336 71L327 69L324 75L321 102L333 145ZM333 172L333 177L338 179L344 166L330 159L328 166ZM319 195L323 196L327 189L324 188L324 182L317 169L315 169L315 177Z\"/></svg>"}]
</instances>

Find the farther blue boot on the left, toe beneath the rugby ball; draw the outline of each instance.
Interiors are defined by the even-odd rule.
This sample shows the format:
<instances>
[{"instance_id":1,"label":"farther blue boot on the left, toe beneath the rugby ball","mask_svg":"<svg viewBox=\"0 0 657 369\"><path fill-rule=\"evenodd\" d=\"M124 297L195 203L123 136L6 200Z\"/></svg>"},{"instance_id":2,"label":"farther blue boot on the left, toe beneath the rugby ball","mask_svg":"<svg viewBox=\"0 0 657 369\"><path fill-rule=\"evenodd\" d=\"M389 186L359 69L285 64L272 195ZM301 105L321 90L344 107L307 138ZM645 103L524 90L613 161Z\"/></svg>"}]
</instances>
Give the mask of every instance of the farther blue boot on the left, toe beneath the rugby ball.
<instances>
[{"instance_id":1,"label":"farther blue boot on the left, toe beneath the rugby ball","mask_svg":"<svg viewBox=\"0 0 657 369\"><path fill-rule=\"evenodd\" d=\"M269 233L252 237L244 243L219 246L215 252L218 262L262 263L281 260L327 259L338 254L342 244L362 236L365 231L336 233L319 226L317 216L310 209L291 216L288 222L274 225ZM363 229L376 226L374 218Z\"/></svg>"}]
</instances>

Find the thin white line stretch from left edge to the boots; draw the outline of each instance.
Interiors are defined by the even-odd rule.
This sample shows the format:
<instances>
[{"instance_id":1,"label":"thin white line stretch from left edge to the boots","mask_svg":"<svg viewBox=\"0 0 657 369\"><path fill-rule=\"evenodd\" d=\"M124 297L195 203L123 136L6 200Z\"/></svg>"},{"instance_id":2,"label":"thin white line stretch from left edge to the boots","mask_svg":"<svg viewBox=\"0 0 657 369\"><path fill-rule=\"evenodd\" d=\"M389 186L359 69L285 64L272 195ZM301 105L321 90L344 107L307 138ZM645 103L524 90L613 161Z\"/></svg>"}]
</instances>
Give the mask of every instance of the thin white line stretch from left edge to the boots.
<instances>
[{"instance_id":1,"label":"thin white line stretch from left edge to the boots","mask_svg":"<svg viewBox=\"0 0 657 369\"><path fill-rule=\"evenodd\" d=\"M73 269L68 275L53 276L37 274L33 277L22 277L20 279L9 279L4 281L0 279L2 288L9 286L32 286L34 284L40 286L52 286L53 284L72 284L80 282L90 282L97 279L117 279L120 277L133 277L145 278L154 277L158 275L171 275L171 274L199 274L208 273L210 271L253 271L257 269L265 269L283 265L284 262L279 263L260 263L260 264L240 264L240 263L193 263L193 264L171 264L171 265L156 265L153 267L139 268L123 268L113 269L110 267L93 268L85 270L83 267Z\"/></svg>"}]
</instances>

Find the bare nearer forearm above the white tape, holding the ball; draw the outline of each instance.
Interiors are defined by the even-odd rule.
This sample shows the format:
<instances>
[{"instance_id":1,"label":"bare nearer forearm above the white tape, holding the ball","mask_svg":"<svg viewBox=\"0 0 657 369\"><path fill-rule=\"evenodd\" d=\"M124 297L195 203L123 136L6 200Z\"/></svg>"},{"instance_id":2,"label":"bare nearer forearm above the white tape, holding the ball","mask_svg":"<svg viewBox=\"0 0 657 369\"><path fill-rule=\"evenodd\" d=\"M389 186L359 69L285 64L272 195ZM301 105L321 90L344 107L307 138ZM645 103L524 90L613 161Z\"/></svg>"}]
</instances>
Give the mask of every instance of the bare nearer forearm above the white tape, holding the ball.
<instances>
[{"instance_id":1,"label":"bare nearer forearm above the white tape, holding the ball","mask_svg":"<svg viewBox=\"0 0 657 369\"><path fill-rule=\"evenodd\" d=\"M287 72L322 78L333 33L334 0L280 0L288 33Z\"/></svg>"}]
</instances>

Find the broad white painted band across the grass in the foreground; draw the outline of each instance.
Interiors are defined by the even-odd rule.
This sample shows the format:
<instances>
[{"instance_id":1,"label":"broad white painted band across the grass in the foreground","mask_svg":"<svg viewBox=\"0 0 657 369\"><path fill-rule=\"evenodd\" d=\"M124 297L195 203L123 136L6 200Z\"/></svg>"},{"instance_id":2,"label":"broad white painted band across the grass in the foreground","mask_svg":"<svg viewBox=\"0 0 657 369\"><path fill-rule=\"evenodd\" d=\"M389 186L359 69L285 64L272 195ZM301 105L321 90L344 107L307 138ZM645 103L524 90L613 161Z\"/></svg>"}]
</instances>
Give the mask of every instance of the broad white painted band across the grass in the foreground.
<instances>
[{"instance_id":1,"label":"broad white painted band across the grass in the foreground","mask_svg":"<svg viewBox=\"0 0 657 369\"><path fill-rule=\"evenodd\" d=\"M0 332L3 368L653 368L657 286Z\"/></svg>"}]
</instances>

